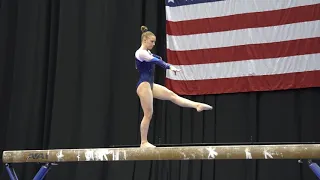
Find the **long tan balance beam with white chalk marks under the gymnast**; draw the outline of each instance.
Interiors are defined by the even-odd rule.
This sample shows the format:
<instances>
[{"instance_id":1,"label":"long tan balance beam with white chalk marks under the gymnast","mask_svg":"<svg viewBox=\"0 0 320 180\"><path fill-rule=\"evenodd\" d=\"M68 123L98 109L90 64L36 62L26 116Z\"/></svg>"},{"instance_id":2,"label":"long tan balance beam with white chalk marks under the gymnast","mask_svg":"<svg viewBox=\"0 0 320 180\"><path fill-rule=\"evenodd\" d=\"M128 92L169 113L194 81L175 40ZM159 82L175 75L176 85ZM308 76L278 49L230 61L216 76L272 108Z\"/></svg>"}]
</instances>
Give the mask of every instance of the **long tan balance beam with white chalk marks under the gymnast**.
<instances>
[{"instance_id":1,"label":"long tan balance beam with white chalk marks under the gymnast","mask_svg":"<svg viewBox=\"0 0 320 180\"><path fill-rule=\"evenodd\" d=\"M320 144L91 148L4 151L3 163L82 161L319 159Z\"/></svg>"}]
</instances>

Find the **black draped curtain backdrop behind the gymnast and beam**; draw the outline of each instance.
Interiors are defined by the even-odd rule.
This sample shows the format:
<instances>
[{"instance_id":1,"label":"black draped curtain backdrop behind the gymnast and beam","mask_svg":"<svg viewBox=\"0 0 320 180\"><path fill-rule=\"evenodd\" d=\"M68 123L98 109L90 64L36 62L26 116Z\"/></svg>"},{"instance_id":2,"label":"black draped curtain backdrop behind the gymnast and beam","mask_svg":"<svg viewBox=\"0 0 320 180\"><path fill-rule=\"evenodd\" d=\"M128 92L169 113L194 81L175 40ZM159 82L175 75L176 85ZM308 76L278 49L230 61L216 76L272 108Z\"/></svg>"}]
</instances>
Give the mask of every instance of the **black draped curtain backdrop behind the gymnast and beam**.
<instances>
[{"instance_id":1,"label":"black draped curtain backdrop behind the gymnast and beam","mask_svg":"<svg viewBox=\"0 0 320 180\"><path fill-rule=\"evenodd\" d=\"M0 149L139 145L142 118L134 52L140 26L165 57L165 8L157 0L0 0ZM164 71L156 69L163 84ZM319 142L320 89L187 96L197 113L155 101L155 144ZM15 164L32 179L38 164ZM4 166L1 179L8 179ZM312 180L297 160L61 163L47 179Z\"/></svg>"}]
</instances>

